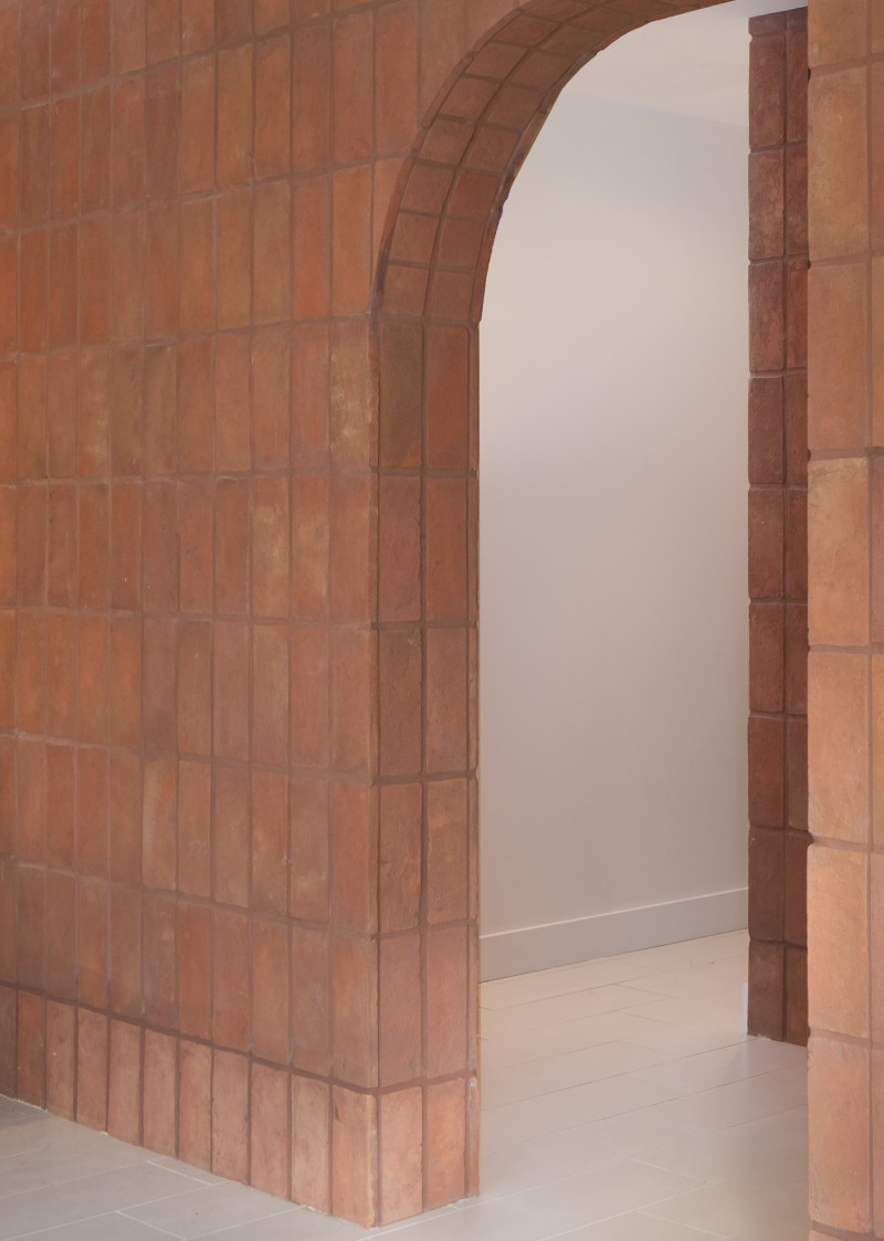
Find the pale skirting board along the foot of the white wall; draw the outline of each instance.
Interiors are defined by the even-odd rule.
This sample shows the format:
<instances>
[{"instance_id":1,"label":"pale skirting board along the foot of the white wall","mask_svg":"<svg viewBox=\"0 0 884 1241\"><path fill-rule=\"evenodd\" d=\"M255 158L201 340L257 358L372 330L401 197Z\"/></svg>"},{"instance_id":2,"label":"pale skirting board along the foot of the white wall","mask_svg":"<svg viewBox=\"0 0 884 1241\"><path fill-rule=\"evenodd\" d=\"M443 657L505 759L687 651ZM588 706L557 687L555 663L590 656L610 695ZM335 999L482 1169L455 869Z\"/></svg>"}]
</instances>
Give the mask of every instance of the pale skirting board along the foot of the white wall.
<instances>
[{"instance_id":1,"label":"pale skirting board along the foot of the white wall","mask_svg":"<svg viewBox=\"0 0 884 1241\"><path fill-rule=\"evenodd\" d=\"M749 889L736 887L663 905L484 934L479 941L482 980L741 931L746 926L747 907Z\"/></svg>"}]
</instances>

